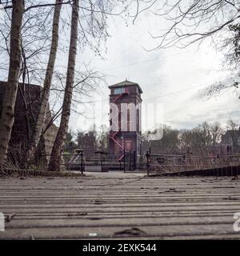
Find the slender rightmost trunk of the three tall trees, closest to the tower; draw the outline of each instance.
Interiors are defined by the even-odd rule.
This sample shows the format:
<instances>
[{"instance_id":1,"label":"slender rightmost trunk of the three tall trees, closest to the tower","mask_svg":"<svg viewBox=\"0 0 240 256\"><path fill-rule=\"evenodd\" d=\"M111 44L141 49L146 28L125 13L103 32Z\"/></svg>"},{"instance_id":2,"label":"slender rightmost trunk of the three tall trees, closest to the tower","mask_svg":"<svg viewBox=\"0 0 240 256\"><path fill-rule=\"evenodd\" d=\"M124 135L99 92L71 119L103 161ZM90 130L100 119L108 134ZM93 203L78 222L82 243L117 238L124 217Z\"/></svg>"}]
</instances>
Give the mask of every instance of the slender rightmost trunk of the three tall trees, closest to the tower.
<instances>
[{"instance_id":1,"label":"slender rightmost trunk of the three tall trees, closest to the tower","mask_svg":"<svg viewBox=\"0 0 240 256\"><path fill-rule=\"evenodd\" d=\"M50 157L48 170L59 171L61 165L61 154L66 140L68 131L68 124L70 118L70 107L72 101L72 94L74 88L74 72L77 56L77 43L78 43L78 16L79 16L79 0L74 0L72 6L72 20L70 32L70 49L66 74L66 88L62 105L62 118L58 134L54 142L54 147Z\"/></svg>"}]
</instances>

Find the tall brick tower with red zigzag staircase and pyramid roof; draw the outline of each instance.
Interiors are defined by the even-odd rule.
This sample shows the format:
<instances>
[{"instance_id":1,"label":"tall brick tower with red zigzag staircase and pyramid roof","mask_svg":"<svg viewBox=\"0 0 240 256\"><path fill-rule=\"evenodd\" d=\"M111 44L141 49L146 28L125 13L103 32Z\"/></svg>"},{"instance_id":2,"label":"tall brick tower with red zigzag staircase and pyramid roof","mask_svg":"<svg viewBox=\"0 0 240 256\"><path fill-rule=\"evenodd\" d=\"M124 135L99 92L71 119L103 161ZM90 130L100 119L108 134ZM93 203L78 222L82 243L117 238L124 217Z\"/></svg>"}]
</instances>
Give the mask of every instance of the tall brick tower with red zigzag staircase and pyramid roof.
<instances>
[{"instance_id":1,"label":"tall brick tower with red zigzag staircase and pyramid roof","mask_svg":"<svg viewBox=\"0 0 240 256\"><path fill-rule=\"evenodd\" d=\"M123 150L126 152L134 152L137 156L142 154L142 126L141 126L141 107L135 109L135 114L132 116L130 109L125 113L123 120L122 103L141 106L142 89L138 83L124 81L109 86L110 89L110 104L113 103L118 107L118 116L110 118L110 126L118 125L117 130L110 130L109 138L109 154L118 156L119 160L123 157ZM111 110L110 114L113 110ZM126 111L126 110L125 110ZM127 117L126 117L127 116ZM125 123L123 123L125 122ZM134 123L135 130L132 129ZM122 129L125 126L126 129Z\"/></svg>"}]
</instances>

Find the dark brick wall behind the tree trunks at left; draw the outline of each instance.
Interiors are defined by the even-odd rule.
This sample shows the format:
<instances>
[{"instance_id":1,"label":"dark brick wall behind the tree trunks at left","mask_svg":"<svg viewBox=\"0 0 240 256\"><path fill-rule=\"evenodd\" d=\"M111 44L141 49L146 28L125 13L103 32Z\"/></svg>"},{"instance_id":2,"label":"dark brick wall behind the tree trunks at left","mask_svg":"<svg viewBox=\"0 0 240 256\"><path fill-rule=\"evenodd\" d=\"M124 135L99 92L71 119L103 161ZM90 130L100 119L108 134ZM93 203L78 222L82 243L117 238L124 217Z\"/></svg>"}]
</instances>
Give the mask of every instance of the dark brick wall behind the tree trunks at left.
<instances>
[{"instance_id":1,"label":"dark brick wall behind the tree trunks at left","mask_svg":"<svg viewBox=\"0 0 240 256\"><path fill-rule=\"evenodd\" d=\"M6 90L6 82L0 82L0 113L2 109L2 99ZM42 87L36 85L19 84L18 94L15 104L14 126L10 138L9 157L14 165L18 162L24 161L22 159L22 150L26 149L29 142L40 107L40 93ZM45 126L50 121L51 115L47 114ZM45 152L42 154L50 154L54 140L58 133L58 127L54 124L46 131L44 139L42 140L41 150ZM38 150L39 152L39 150Z\"/></svg>"}]
</instances>

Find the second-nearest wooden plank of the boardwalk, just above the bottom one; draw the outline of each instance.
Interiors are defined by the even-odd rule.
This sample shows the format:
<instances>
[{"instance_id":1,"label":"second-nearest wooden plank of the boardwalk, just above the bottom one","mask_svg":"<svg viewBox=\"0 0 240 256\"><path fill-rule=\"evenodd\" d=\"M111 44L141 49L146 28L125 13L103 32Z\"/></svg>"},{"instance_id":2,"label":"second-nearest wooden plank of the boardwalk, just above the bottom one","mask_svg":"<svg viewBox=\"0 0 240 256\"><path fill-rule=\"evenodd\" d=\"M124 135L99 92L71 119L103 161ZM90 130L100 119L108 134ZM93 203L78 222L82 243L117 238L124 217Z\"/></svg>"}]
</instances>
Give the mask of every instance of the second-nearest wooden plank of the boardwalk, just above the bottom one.
<instances>
[{"instance_id":1,"label":"second-nearest wooden plank of the boardwalk, just above the bottom one","mask_svg":"<svg viewBox=\"0 0 240 256\"><path fill-rule=\"evenodd\" d=\"M213 225L230 224L234 218L230 216L214 217L163 217L163 218L58 218L58 219L18 219L13 218L6 223L6 229L38 228L38 227L108 227L108 226L174 226L174 225Z\"/></svg>"}]
</instances>

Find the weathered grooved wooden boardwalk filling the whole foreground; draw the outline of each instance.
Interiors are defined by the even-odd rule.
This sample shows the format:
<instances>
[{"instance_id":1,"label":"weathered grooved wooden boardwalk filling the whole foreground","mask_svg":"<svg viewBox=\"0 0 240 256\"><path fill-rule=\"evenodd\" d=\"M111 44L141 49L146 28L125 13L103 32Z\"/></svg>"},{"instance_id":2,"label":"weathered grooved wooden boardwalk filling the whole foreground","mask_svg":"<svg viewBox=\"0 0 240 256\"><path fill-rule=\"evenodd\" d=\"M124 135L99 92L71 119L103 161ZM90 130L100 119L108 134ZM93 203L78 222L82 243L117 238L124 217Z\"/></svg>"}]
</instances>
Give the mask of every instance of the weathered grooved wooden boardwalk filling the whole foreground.
<instances>
[{"instance_id":1,"label":"weathered grooved wooden boardwalk filling the whole foreground","mask_svg":"<svg viewBox=\"0 0 240 256\"><path fill-rule=\"evenodd\" d=\"M0 239L239 239L240 178L6 178L0 212Z\"/></svg>"}]
</instances>

